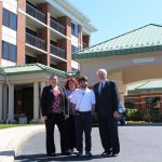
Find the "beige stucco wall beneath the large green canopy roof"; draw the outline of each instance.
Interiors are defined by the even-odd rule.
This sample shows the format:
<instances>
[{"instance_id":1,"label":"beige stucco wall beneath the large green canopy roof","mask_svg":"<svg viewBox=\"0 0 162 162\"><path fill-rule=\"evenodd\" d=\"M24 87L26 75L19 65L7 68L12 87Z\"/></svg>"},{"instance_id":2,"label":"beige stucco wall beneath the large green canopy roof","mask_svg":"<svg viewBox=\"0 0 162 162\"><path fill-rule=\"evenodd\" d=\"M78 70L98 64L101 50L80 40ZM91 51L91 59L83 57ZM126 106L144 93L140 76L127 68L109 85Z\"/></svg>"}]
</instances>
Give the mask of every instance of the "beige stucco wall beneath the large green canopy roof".
<instances>
[{"instance_id":1,"label":"beige stucco wall beneath the large green canopy roof","mask_svg":"<svg viewBox=\"0 0 162 162\"><path fill-rule=\"evenodd\" d=\"M162 78L162 52L126 54L119 56L80 59L81 75L89 78L89 85L97 81L97 69L108 71L108 79L118 84L121 102L126 94L126 86L134 82Z\"/></svg>"}]
</instances>

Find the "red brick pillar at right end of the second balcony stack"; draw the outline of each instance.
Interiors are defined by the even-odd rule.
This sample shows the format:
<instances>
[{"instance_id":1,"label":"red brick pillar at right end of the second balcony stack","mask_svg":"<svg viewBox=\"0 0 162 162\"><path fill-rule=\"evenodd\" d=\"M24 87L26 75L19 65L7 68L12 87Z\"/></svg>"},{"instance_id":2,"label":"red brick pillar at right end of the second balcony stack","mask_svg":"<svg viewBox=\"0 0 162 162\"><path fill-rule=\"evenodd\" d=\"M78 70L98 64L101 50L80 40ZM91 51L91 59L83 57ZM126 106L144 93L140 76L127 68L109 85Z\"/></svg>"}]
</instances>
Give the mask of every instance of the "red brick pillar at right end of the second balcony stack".
<instances>
[{"instance_id":1,"label":"red brick pillar at right end of the second balcony stack","mask_svg":"<svg viewBox=\"0 0 162 162\"><path fill-rule=\"evenodd\" d=\"M66 27L66 36L71 38L71 19L69 17L58 17L58 23ZM71 71L71 41L68 39L60 39L57 45L66 51L67 63L58 64L58 68L64 71Z\"/></svg>"}]
</instances>

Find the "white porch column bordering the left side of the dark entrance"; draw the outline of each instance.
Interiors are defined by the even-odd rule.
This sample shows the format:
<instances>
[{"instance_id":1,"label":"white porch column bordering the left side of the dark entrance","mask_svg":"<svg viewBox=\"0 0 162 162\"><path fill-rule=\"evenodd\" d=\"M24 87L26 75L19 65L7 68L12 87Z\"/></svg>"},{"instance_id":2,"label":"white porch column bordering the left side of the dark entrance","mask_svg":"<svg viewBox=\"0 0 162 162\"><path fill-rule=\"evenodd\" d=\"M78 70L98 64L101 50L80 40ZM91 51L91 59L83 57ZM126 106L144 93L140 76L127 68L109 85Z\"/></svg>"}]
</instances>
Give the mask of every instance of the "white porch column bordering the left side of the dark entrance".
<instances>
[{"instance_id":1,"label":"white porch column bordering the left side of the dark entrance","mask_svg":"<svg viewBox=\"0 0 162 162\"><path fill-rule=\"evenodd\" d=\"M9 86L9 120L14 122L14 85Z\"/></svg>"}]
</instances>

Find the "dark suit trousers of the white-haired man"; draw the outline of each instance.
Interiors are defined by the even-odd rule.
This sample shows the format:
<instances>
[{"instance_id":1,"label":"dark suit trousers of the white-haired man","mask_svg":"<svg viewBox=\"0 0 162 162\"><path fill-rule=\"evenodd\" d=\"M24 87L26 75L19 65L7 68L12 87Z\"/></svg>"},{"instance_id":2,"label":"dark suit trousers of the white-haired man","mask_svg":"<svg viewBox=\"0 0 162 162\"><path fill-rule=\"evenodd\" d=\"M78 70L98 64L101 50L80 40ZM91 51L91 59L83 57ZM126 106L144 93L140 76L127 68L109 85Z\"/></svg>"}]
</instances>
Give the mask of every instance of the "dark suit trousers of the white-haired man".
<instances>
[{"instance_id":1,"label":"dark suit trousers of the white-haired man","mask_svg":"<svg viewBox=\"0 0 162 162\"><path fill-rule=\"evenodd\" d=\"M103 148L106 152L119 153L118 121L107 117L98 117L98 127Z\"/></svg>"}]
</instances>

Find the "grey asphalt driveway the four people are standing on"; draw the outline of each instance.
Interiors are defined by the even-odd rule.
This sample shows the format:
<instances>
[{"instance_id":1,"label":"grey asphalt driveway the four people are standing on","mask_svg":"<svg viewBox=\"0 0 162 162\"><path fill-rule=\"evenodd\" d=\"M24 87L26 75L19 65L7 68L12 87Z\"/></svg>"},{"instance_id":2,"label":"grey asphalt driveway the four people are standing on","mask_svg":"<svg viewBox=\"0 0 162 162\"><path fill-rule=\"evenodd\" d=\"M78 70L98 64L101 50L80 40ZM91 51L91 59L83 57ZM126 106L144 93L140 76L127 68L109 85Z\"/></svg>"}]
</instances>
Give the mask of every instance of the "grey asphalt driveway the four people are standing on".
<instances>
[{"instance_id":1,"label":"grey asphalt driveway the four people are standing on","mask_svg":"<svg viewBox=\"0 0 162 162\"><path fill-rule=\"evenodd\" d=\"M119 126L121 152L116 158L103 158L98 129L92 131L92 159L59 156L59 137L55 131L55 158L45 156L45 133L38 133L24 143L15 161L96 161L96 162L162 162L162 126Z\"/></svg>"}]
</instances>

